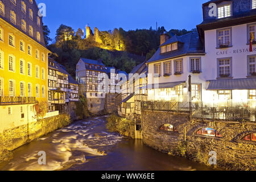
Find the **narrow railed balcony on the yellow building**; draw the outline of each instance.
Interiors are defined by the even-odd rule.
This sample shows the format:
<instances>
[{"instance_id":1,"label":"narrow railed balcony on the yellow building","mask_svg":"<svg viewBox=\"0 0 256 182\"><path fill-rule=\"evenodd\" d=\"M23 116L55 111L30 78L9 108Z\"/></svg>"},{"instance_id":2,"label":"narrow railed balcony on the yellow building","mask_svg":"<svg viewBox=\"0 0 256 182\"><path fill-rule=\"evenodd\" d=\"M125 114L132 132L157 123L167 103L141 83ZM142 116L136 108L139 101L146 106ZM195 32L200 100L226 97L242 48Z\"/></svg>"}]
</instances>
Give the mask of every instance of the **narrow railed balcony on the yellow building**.
<instances>
[{"instance_id":1,"label":"narrow railed balcony on the yellow building","mask_svg":"<svg viewBox=\"0 0 256 182\"><path fill-rule=\"evenodd\" d=\"M0 96L0 105L35 104L35 97Z\"/></svg>"}]
</instances>

